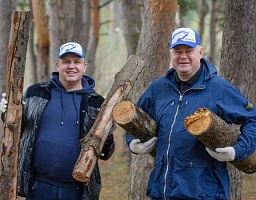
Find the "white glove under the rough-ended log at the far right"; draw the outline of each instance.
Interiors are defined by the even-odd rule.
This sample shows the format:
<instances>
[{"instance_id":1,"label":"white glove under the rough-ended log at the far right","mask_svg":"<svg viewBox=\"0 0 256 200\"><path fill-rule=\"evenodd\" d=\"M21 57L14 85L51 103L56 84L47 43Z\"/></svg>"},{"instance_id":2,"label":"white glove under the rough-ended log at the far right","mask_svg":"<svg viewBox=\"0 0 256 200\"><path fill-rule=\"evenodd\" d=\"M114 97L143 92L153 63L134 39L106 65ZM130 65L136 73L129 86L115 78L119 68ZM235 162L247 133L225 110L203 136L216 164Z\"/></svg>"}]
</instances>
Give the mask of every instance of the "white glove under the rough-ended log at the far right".
<instances>
[{"instance_id":1,"label":"white glove under the rough-ended log at the far right","mask_svg":"<svg viewBox=\"0 0 256 200\"><path fill-rule=\"evenodd\" d=\"M233 147L216 148L215 151L206 147L206 151L210 156L221 162L233 161L236 156L236 151Z\"/></svg>"}]
</instances>

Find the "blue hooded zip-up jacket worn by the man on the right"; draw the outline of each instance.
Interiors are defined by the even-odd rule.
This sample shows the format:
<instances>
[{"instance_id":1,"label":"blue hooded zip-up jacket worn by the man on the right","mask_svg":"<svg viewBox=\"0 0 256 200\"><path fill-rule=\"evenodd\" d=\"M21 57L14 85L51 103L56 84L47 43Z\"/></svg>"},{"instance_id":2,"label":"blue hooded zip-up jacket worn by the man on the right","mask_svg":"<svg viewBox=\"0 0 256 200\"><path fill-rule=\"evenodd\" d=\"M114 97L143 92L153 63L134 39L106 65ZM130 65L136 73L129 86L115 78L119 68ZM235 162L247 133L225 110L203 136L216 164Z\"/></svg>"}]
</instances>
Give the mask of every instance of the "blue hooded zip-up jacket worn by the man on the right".
<instances>
[{"instance_id":1,"label":"blue hooded zip-up jacket worn by the man on the right","mask_svg":"<svg viewBox=\"0 0 256 200\"><path fill-rule=\"evenodd\" d=\"M217 75L208 60L201 59L202 74L183 94L172 68L153 81L137 105L158 124L154 169L147 195L156 199L228 199L227 163L212 158L205 146L184 127L184 119L199 108L208 108L227 123L241 125L233 146L236 160L250 156L256 147L256 109L231 83ZM132 136L126 134L129 146Z\"/></svg>"}]
</instances>

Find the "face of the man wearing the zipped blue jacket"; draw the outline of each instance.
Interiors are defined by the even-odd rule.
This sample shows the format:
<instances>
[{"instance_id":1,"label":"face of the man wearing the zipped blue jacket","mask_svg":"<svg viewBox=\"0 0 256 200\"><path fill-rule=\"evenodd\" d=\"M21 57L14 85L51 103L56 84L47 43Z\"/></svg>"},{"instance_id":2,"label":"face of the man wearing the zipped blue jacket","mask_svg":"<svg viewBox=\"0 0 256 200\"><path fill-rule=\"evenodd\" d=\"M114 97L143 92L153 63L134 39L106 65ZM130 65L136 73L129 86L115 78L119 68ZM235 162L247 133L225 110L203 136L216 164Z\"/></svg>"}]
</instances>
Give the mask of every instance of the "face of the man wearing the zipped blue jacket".
<instances>
[{"instance_id":1,"label":"face of the man wearing the zipped blue jacket","mask_svg":"<svg viewBox=\"0 0 256 200\"><path fill-rule=\"evenodd\" d=\"M178 45L170 52L171 65L182 81L189 80L200 68L200 59L203 57L203 47L200 45L195 48Z\"/></svg>"}]
</instances>

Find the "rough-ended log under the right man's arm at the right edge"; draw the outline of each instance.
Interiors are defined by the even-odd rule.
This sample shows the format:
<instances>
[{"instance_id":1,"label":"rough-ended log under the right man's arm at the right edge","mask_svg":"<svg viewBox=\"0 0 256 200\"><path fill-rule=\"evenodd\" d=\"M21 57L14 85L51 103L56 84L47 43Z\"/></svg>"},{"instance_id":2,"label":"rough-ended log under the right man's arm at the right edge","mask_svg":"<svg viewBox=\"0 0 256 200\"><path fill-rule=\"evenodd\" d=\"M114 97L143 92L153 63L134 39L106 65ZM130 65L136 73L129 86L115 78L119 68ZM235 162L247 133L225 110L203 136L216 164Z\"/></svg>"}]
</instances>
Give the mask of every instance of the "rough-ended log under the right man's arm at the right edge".
<instances>
[{"instance_id":1,"label":"rough-ended log under the right man's arm at the right edge","mask_svg":"<svg viewBox=\"0 0 256 200\"><path fill-rule=\"evenodd\" d=\"M240 134L239 126L227 124L207 108L200 108L184 120L187 131L211 150L232 146ZM237 169L247 174L256 172L256 152L245 160L230 161Z\"/></svg>"}]
</instances>

